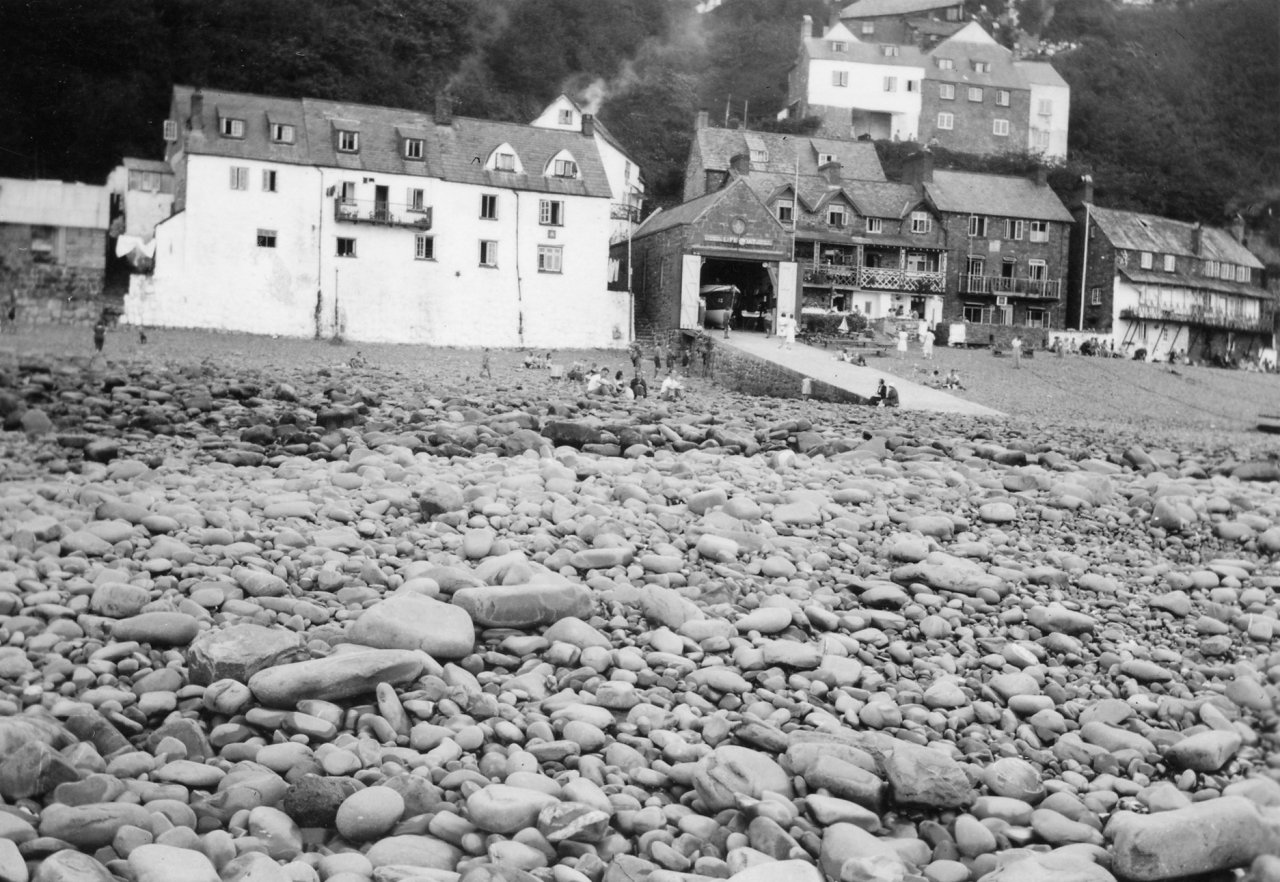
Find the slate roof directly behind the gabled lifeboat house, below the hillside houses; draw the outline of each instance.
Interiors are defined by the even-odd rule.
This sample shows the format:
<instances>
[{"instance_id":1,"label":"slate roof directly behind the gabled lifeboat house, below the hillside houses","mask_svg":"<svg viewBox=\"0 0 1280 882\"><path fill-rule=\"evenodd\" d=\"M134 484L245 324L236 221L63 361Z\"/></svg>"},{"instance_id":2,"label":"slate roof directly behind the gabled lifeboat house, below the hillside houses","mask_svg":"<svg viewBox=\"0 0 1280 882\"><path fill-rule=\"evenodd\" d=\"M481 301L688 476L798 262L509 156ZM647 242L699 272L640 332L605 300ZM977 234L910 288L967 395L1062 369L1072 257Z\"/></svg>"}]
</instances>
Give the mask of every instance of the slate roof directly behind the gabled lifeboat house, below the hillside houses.
<instances>
[{"instance_id":1,"label":"slate roof directly behind the gabled lifeboat house, below the hillside houses","mask_svg":"<svg viewBox=\"0 0 1280 882\"><path fill-rule=\"evenodd\" d=\"M778 134L776 132L745 132L731 128L700 128L694 133L694 150L699 151L703 168L727 172L730 160L739 154L750 154L746 137L758 140L768 151L763 164L751 163L751 174L777 174L788 180L796 175L796 157L800 160L800 178L818 175L818 154L831 154L841 165L841 175L849 180L884 180L876 145L869 141L837 141L835 138L804 134ZM801 183L801 191L804 184Z\"/></svg>"}]
</instances>

